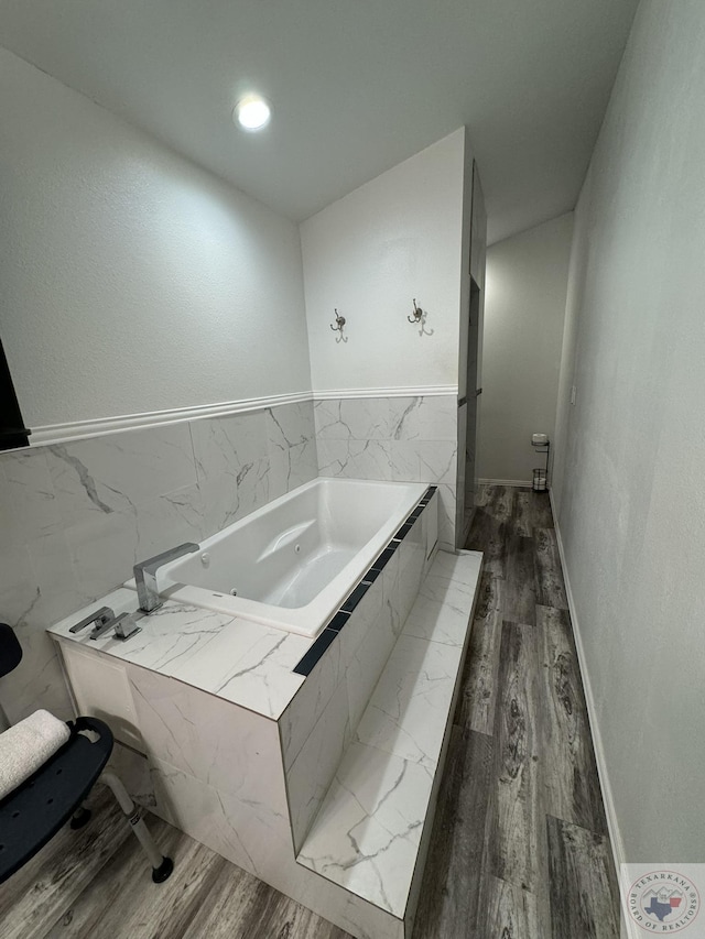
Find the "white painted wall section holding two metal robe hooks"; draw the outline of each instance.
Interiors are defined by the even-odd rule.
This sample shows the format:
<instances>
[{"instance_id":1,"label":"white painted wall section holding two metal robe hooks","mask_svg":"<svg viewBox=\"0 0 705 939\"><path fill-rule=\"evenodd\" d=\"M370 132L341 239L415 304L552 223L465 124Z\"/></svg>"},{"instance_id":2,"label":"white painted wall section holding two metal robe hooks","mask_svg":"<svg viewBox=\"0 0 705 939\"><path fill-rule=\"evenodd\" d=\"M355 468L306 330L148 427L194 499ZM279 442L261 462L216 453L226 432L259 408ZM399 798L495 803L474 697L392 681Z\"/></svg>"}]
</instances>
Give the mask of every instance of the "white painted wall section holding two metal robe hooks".
<instances>
[{"instance_id":1,"label":"white painted wall section holding two metal robe hooks","mask_svg":"<svg viewBox=\"0 0 705 939\"><path fill-rule=\"evenodd\" d=\"M315 391L457 385L464 160L462 128L302 223Z\"/></svg>"}]
</instances>

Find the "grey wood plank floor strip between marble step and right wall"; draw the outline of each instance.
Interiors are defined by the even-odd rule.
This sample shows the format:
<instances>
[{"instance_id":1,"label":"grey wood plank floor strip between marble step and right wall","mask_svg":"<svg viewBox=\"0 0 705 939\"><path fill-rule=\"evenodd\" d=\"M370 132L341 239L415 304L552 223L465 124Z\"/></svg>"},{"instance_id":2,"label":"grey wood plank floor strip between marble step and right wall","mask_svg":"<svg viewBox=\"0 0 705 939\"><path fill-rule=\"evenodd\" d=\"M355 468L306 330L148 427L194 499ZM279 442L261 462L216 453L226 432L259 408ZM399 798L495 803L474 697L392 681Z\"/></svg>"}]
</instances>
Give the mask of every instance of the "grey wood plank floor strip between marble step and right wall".
<instances>
[{"instance_id":1,"label":"grey wood plank floor strip between marble step and right wall","mask_svg":"<svg viewBox=\"0 0 705 939\"><path fill-rule=\"evenodd\" d=\"M414 939L618 939L547 496L485 487L466 547L488 556Z\"/></svg>"}]
</instances>

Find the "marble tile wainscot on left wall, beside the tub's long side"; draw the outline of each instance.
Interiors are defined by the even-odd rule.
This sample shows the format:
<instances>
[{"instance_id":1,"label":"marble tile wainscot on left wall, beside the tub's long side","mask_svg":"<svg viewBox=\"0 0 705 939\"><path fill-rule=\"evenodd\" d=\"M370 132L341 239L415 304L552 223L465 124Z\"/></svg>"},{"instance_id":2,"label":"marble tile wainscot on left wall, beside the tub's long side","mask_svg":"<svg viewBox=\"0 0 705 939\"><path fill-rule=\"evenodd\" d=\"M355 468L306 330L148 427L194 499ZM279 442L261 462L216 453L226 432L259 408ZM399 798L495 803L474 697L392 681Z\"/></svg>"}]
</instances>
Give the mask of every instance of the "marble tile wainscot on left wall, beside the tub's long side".
<instances>
[{"instance_id":1,"label":"marble tile wainscot on left wall, beside the tub's long side","mask_svg":"<svg viewBox=\"0 0 705 939\"><path fill-rule=\"evenodd\" d=\"M0 454L0 621L24 651L0 681L10 720L72 716L47 626L317 473L311 402Z\"/></svg>"}]
</instances>

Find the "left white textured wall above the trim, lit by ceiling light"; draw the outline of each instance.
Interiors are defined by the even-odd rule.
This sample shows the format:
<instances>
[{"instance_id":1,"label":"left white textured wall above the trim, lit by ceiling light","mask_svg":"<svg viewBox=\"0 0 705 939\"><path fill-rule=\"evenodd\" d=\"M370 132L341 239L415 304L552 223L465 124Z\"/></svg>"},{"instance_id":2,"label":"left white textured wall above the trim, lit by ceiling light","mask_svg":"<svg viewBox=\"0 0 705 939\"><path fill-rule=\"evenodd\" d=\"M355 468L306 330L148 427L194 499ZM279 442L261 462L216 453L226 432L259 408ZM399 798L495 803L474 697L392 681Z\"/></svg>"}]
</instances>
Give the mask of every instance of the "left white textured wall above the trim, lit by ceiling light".
<instances>
[{"instance_id":1,"label":"left white textured wall above the trim, lit by ceiling light","mask_svg":"<svg viewBox=\"0 0 705 939\"><path fill-rule=\"evenodd\" d=\"M310 389L296 227L4 50L0 179L30 426Z\"/></svg>"}]
</instances>

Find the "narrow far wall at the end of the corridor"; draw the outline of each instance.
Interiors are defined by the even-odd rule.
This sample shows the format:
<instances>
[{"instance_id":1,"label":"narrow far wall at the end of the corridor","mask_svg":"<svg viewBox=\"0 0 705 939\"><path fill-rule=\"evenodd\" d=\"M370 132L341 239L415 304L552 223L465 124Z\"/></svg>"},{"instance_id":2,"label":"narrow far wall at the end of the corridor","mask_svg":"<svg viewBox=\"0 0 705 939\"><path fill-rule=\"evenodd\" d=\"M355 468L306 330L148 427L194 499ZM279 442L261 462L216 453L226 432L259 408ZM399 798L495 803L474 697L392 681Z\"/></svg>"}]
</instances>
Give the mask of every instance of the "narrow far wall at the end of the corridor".
<instances>
[{"instance_id":1,"label":"narrow far wall at the end of the corridor","mask_svg":"<svg viewBox=\"0 0 705 939\"><path fill-rule=\"evenodd\" d=\"M531 480L533 433L553 439L573 212L487 251L481 479Z\"/></svg>"}]
</instances>

